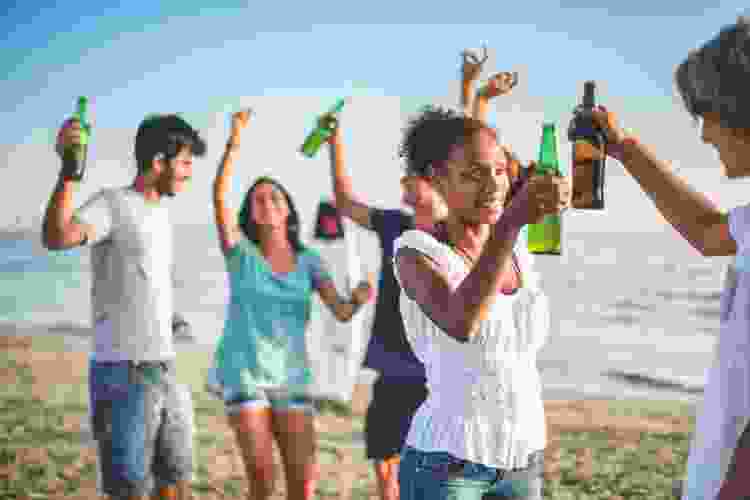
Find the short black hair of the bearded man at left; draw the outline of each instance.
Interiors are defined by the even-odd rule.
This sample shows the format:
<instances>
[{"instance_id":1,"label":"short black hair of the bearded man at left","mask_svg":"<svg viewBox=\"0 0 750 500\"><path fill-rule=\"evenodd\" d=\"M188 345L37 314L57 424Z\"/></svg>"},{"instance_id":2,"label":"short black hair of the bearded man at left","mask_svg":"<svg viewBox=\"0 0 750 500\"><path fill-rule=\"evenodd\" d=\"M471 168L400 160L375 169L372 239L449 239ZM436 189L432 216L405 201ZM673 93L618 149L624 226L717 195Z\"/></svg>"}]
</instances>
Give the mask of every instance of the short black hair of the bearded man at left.
<instances>
[{"instance_id":1,"label":"short black hair of the bearded man at left","mask_svg":"<svg viewBox=\"0 0 750 500\"><path fill-rule=\"evenodd\" d=\"M135 161L138 174L146 173L154 157L173 159L184 147L189 147L193 156L206 154L206 143L198 131L176 114L150 115L138 126L135 134Z\"/></svg>"}]
</instances>

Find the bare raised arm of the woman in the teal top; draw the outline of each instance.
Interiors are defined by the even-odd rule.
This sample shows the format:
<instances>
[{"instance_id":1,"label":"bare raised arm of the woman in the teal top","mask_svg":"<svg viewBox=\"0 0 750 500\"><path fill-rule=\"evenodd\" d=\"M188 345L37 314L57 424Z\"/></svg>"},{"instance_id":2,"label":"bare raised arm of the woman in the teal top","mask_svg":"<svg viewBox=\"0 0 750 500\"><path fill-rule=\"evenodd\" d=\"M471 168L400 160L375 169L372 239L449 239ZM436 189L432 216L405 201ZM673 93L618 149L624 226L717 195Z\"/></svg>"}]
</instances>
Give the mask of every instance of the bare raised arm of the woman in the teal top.
<instances>
[{"instance_id":1,"label":"bare raised arm of the woman in the teal top","mask_svg":"<svg viewBox=\"0 0 750 500\"><path fill-rule=\"evenodd\" d=\"M224 253L229 252L240 241L237 214L230 208L226 198L231 185L232 163L239 154L242 129L247 126L248 121L250 121L249 110L232 115L231 134L214 180L214 216L221 249Z\"/></svg>"}]
</instances>

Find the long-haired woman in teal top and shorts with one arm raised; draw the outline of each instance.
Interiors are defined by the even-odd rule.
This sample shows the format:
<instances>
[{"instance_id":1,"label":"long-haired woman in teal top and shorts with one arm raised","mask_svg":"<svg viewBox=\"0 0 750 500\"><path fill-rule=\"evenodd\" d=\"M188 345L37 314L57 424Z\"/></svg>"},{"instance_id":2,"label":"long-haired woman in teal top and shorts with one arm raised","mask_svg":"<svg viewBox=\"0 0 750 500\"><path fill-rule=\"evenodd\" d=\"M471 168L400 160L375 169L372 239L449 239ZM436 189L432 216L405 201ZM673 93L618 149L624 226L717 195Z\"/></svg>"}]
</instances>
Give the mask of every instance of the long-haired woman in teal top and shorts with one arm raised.
<instances>
[{"instance_id":1,"label":"long-haired woman in teal top and shorts with one arm raised","mask_svg":"<svg viewBox=\"0 0 750 500\"><path fill-rule=\"evenodd\" d=\"M309 500L318 475L305 346L312 294L317 292L343 322L371 300L373 287L363 282L350 300L339 296L320 255L300 242L292 199L273 179L256 180L239 216L229 208L231 165L249 119L249 111L232 116L231 136L214 182L216 226L230 286L215 369L242 450L248 498L273 494L275 438L285 464L287 498Z\"/></svg>"}]
</instances>

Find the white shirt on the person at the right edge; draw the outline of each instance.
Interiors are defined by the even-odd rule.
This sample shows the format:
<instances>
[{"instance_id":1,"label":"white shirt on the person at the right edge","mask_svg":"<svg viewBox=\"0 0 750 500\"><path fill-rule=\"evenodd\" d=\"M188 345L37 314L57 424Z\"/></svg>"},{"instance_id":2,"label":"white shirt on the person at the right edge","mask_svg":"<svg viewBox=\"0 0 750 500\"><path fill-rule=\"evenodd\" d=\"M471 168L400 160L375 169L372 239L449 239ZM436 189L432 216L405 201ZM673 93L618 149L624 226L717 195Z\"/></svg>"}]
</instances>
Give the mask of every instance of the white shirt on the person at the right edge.
<instances>
[{"instance_id":1,"label":"white shirt on the person at the right edge","mask_svg":"<svg viewBox=\"0 0 750 500\"><path fill-rule=\"evenodd\" d=\"M696 419L683 500L716 498L750 423L750 205L729 212L729 231L737 255L721 294L721 329Z\"/></svg>"}]
</instances>

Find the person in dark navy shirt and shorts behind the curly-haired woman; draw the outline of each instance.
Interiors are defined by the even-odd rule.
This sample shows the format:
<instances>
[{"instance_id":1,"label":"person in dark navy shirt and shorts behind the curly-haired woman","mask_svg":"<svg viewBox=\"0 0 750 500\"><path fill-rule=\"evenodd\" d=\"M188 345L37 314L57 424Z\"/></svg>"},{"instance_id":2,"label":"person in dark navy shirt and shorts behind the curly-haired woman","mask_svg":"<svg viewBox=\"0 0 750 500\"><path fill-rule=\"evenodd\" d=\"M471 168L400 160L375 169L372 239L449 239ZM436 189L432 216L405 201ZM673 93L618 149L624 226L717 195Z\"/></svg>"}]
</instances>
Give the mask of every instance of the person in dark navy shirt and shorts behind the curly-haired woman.
<instances>
[{"instance_id":1,"label":"person in dark navy shirt and shorts behind the curly-haired woman","mask_svg":"<svg viewBox=\"0 0 750 500\"><path fill-rule=\"evenodd\" d=\"M393 275L393 242L407 229L429 231L442 208L442 200L419 177L404 177L403 202L412 209L383 210L358 201L344 169L340 127L329 141L336 208L355 223L374 231L382 249L379 292L372 335L364 366L378 372L365 419L367 458L375 461L380 497L398 498L394 465L411 424L411 418L427 397L424 366L416 358L404 333L399 312L400 289Z\"/></svg>"}]
</instances>

